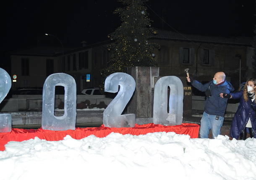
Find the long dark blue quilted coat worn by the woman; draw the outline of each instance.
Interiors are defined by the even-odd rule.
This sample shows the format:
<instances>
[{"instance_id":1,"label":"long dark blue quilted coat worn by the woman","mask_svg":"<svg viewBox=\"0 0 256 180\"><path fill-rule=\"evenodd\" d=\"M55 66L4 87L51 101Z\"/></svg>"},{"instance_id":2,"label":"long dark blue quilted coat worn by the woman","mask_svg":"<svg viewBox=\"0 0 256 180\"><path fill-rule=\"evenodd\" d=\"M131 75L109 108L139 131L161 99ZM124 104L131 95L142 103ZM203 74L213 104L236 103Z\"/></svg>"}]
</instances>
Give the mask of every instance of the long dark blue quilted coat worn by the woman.
<instances>
[{"instance_id":1,"label":"long dark blue quilted coat worn by the woman","mask_svg":"<svg viewBox=\"0 0 256 180\"><path fill-rule=\"evenodd\" d=\"M238 106L238 110L235 112L235 116L232 120L230 136L238 139L240 133L246 127L246 124L250 118L251 126L254 134L254 138L256 138L256 119L255 119L255 110L256 104L255 100L252 102L251 99L248 98L248 101L245 101L243 97L243 90L235 93L231 93L232 99L240 98L240 103Z\"/></svg>"}]
</instances>

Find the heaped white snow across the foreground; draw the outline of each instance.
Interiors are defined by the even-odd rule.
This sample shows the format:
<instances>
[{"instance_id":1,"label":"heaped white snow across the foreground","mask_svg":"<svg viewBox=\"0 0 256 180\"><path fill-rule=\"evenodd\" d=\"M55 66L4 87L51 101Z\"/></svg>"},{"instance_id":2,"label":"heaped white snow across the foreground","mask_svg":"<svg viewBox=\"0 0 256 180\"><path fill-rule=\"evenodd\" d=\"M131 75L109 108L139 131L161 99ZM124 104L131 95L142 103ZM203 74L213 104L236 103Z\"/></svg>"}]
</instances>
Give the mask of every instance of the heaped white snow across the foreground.
<instances>
[{"instance_id":1,"label":"heaped white snow across the foreground","mask_svg":"<svg viewBox=\"0 0 256 180\"><path fill-rule=\"evenodd\" d=\"M9 142L0 180L255 180L256 139L190 139L174 132Z\"/></svg>"}]
</instances>

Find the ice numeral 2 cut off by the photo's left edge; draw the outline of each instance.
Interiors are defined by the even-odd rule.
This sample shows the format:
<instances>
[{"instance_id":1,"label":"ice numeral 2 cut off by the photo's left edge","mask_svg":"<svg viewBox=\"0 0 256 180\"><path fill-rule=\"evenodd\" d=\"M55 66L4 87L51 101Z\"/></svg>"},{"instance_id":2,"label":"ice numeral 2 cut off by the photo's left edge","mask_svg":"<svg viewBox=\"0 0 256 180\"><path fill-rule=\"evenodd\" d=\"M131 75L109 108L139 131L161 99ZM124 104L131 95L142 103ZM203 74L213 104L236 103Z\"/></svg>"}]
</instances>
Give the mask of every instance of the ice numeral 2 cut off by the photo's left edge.
<instances>
[{"instance_id":1,"label":"ice numeral 2 cut off by the photo's left edge","mask_svg":"<svg viewBox=\"0 0 256 180\"><path fill-rule=\"evenodd\" d=\"M0 68L0 103L10 91L11 80L9 74ZM12 118L10 114L0 114L0 132L10 132L12 129Z\"/></svg>"}]
</instances>

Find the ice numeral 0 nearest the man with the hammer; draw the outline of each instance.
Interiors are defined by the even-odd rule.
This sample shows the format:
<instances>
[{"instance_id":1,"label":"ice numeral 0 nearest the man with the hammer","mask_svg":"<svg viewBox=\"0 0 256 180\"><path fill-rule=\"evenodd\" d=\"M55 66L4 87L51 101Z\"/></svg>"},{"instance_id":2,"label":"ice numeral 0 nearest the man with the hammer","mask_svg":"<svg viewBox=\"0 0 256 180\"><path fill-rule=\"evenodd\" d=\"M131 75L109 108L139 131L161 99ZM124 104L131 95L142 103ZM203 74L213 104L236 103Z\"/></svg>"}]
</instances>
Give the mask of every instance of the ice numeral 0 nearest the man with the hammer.
<instances>
[{"instance_id":1,"label":"ice numeral 0 nearest the man with the hammer","mask_svg":"<svg viewBox=\"0 0 256 180\"><path fill-rule=\"evenodd\" d=\"M167 88L170 87L169 113L167 113ZM153 123L182 124L183 84L176 76L160 78L154 87Z\"/></svg>"}]
</instances>

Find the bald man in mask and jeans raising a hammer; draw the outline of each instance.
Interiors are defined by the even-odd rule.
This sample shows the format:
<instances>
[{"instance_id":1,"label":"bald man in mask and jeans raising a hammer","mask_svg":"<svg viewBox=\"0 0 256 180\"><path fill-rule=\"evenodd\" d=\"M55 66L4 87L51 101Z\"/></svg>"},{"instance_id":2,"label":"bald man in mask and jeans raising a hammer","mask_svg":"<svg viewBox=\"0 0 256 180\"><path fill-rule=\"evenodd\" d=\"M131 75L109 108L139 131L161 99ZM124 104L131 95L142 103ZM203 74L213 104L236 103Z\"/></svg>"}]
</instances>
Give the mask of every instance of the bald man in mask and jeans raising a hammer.
<instances>
[{"instance_id":1,"label":"bald man in mask and jeans raising a hammer","mask_svg":"<svg viewBox=\"0 0 256 180\"><path fill-rule=\"evenodd\" d=\"M187 73L187 81L191 82L191 85L199 91L205 92L206 95L204 114L200 125L200 137L208 138L209 130L212 129L212 138L215 138L220 134L227 106L227 99L220 97L219 94L229 94L234 91L234 88L230 82L225 80L226 75L224 72L217 72L214 74L212 81L201 84L199 81L189 77L188 69L185 69L185 71Z\"/></svg>"}]
</instances>

